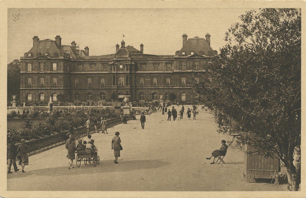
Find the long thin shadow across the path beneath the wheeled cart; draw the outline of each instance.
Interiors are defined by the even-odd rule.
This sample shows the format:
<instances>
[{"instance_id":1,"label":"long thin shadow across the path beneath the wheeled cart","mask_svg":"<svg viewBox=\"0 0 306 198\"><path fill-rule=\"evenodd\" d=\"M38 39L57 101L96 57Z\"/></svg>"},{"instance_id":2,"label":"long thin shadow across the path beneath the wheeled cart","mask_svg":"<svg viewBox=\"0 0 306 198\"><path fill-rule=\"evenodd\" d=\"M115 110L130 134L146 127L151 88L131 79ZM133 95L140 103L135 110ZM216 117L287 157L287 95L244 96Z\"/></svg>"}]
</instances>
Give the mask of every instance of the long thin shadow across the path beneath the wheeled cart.
<instances>
[{"instance_id":1,"label":"long thin shadow across the path beneath the wheeled cart","mask_svg":"<svg viewBox=\"0 0 306 198\"><path fill-rule=\"evenodd\" d=\"M81 162L80 167L76 167L75 161L74 167L71 170L66 167L53 167L53 168L44 168L38 170L27 171L25 168L25 173L18 172L15 174L8 174L7 178L21 178L29 176L61 176L61 175L80 175L80 174L97 174L97 173L109 173L109 172L125 172L141 169L152 169L159 168L162 166L170 165L172 163L166 162L165 160L119 160L119 164L115 164L114 160L100 160L100 164L94 167L91 164L87 163L84 165L84 162ZM68 165L68 161L67 161Z\"/></svg>"}]
</instances>

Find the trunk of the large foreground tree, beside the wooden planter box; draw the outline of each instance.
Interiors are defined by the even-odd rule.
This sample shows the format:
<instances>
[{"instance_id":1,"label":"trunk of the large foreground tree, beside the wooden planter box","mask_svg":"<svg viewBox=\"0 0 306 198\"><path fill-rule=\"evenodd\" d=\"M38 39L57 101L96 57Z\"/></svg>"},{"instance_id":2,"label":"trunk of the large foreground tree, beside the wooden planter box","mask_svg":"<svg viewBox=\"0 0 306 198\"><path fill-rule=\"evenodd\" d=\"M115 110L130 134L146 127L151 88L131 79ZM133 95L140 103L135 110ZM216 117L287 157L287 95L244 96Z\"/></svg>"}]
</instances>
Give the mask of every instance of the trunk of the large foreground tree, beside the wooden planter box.
<instances>
[{"instance_id":1,"label":"trunk of the large foreground tree, beside the wooden planter box","mask_svg":"<svg viewBox=\"0 0 306 198\"><path fill-rule=\"evenodd\" d=\"M298 191L300 185L300 168L298 170L293 165L293 162L288 163L289 166L287 167L287 177L288 177L288 189L290 191Z\"/></svg>"}]
</instances>

